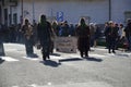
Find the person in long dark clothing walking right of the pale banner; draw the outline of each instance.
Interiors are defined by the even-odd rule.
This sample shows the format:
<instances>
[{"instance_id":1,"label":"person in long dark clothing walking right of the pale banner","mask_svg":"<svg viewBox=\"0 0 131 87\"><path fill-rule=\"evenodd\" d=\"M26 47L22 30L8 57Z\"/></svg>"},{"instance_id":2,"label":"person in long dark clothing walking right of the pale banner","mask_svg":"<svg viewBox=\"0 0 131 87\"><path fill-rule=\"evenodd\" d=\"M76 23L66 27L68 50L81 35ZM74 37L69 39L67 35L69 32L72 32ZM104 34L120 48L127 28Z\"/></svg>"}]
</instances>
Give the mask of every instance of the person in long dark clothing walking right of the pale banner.
<instances>
[{"instance_id":1,"label":"person in long dark clothing walking right of the pale banner","mask_svg":"<svg viewBox=\"0 0 131 87\"><path fill-rule=\"evenodd\" d=\"M88 58L90 50L90 27L85 24L85 20L81 18L80 25L76 28L78 36L78 49L80 50L80 54L83 58Z\"/></svg>"}]
</instances>

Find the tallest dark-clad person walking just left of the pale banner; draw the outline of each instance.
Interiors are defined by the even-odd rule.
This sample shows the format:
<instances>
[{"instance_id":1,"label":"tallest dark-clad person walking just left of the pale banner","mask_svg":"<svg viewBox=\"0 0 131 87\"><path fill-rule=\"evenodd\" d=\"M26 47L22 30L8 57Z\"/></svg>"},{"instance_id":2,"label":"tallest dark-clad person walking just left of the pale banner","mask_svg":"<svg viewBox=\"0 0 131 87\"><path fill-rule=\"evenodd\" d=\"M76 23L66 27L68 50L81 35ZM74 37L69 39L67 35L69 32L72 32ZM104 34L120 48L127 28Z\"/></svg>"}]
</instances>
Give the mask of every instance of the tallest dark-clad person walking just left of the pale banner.
<instances>
[{"instance_id":1,"label":"tallest dark-clad person walking just left of the pale banner","mask_svg":"<svg viewBox=\"0 0 131 87\"><path fill-rule=\"evenodd\" d=\"M47 22L46 15L40 16L40 23L37 26L38 40L41 46L43 60L49 59L51 42L51 24Z\"/></svg>"}]
</instances>

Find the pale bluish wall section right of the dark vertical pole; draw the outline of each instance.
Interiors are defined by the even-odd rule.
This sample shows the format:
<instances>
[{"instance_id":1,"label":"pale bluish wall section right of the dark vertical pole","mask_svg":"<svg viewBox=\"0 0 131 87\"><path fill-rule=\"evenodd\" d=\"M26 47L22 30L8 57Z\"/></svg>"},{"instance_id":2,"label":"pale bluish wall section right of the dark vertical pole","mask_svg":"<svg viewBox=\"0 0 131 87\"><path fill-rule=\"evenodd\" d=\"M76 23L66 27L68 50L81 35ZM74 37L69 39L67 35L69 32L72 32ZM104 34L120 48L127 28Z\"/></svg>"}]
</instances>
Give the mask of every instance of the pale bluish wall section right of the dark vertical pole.
<instances>
[{"instance_id":1,"label":"pale bluish wall section right of the dark vertical pole","mask_svg":"<svg viewBox=\"0 0 131 87\"><path fill-rule=\"evenodd\" d=\"M124 12L131 11L131 0L112 0L111 18L117 23L124 23Z\"/></svg>"}]
</instances>

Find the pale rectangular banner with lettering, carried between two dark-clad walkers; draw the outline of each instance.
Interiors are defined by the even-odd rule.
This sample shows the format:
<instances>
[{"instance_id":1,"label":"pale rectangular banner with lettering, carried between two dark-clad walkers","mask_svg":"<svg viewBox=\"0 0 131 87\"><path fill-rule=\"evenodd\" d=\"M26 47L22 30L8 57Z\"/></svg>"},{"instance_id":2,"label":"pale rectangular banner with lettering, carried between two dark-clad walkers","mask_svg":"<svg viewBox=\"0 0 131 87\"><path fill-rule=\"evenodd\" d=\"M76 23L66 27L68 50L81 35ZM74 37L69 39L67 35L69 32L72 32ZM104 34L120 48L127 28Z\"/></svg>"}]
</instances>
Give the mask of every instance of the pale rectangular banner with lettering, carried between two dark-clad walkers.
<instances>
[{"instance_id":1,"label":"pale rectangular banner with lettering, carried between two dark-clad walkers","mask_svg":"<svg viewBox=\"0 0 131 87\"><path fill-rule=\"evenodd\" d=\"M56 50L66 53L76 53L75 37L57 37L55 40Z\"/></svg>"}]
</instances>

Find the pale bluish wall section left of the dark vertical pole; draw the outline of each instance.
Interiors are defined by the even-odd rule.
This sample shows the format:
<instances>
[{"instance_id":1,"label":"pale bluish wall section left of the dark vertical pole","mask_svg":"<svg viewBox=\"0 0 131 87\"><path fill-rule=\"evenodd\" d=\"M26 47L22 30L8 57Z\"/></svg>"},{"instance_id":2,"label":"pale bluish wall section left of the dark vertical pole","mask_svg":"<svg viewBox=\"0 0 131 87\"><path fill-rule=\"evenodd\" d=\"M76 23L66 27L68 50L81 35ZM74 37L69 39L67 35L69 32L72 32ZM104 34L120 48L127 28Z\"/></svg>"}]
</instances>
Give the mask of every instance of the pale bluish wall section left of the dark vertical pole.
<instances>
[{"instance_id":1,"label":"pale bluish wall section left of the dark vertical pole","mask_svg":"<svg viewBox=\"0 0 131 87\"><path fill-rule=\"evenodd\" d=\"M90 16L91 22L104 23L108 21L108 1L107 0L81 0L81 1L35 1L35 20L38 22L40 14L47 16L56 16L57 12L62 11L64 13L64 20L70 23L78 23L81 16ZM24 1L24 11L29 12L25 15L31 22L33 21L33 4L32 0ZM19 5L19 11L21 10Z\"/></svg>"}]
</instances>

